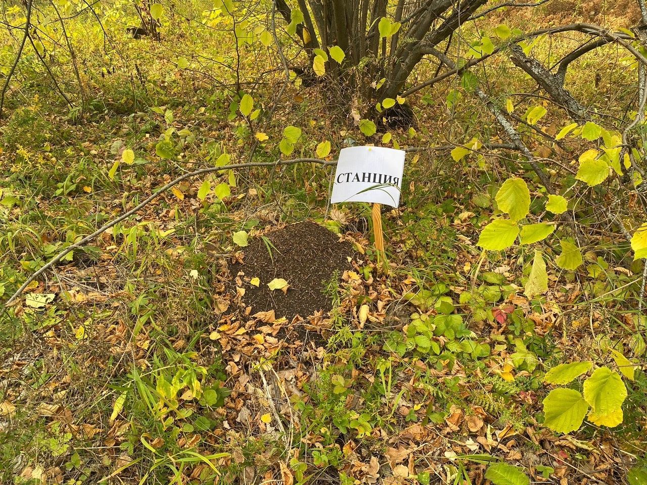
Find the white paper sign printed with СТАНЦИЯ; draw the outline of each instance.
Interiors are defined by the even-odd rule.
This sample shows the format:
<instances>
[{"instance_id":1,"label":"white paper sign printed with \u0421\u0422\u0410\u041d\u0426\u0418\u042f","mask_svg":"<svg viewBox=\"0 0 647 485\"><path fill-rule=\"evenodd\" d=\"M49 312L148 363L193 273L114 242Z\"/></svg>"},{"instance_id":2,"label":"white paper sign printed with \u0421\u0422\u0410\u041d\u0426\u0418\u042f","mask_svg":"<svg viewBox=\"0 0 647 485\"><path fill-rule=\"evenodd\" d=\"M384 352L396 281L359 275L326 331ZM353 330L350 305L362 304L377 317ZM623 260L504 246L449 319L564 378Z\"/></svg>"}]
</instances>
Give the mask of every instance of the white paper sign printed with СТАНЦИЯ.
<instances>
[{"instance_id":1,"label":"white paper sign printed with \u0421\u0422\u0410\u041d\u0426\u0418\u042f","mask_svg":"<svg viewBox=\"0 0 647 485\"><path fill-rule=\"evenodd\" d=\"M339 153L331 202L375 202L397 207L404 171L404 151L384 147L349 147Z\"/></svg>"}]
</instances>

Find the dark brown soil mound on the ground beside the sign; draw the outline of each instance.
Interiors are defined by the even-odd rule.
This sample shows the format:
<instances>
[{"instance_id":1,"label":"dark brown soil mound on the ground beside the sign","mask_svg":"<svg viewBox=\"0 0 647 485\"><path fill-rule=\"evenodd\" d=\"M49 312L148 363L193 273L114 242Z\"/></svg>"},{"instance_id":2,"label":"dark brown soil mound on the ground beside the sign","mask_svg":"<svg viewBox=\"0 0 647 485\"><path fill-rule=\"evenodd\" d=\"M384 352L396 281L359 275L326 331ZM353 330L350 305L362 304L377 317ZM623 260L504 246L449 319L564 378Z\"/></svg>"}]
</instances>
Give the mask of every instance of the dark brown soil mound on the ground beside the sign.
<instances>
[{"instance_id":1,"label":"dark brown soil mound on the ground beside the sign","mask_svg":"<svg viewBox=\"0 0 647 485\"><path fill-rule=\"evenodd\" d=\"M334 272L350 268L351 244L339 242L337 235L314 222L291 224L266 237L271 242L269 250L258 237L245 248L244 263L229 268L234 277L245 274L241 277L243 304L252 307L252 314L274 310L276 318L289 321L297 315L307 318L317 311L328 312L331 300L324 288ZM258 287L249 283L255 277L260 279ZM274 278L288 282L287 293L270 290L267 284Z\"/></svg>"}]
</instances>

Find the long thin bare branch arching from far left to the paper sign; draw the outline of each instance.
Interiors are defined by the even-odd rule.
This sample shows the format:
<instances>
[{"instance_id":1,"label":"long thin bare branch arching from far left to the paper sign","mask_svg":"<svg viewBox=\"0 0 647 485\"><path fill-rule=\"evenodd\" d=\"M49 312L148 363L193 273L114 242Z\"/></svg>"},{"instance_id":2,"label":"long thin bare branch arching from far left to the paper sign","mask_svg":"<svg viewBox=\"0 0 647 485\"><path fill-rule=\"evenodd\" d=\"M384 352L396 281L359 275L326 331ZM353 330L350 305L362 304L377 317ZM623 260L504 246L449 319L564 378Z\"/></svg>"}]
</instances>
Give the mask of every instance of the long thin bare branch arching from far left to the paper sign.
<instances>
[{"instance_id":1,"label":"long thin bare branch arching from far left to the paper sign","mask_svg":"<svg viewBox=\"0 0 647 485\"><path fill-rule=\"evenodd\" d=\"M213 173L213 172L219 172L219 171L224 171L224 170L231 170L231 169L236 169L236 168L251 168L251 167L273 167L277 165L294 165L298 163L313 163L313 164L322 164L322 165L335 165L337 162L336 160L333 160L331 162L327 162L326 160L320 160L319 158L294 158L292 160L278 160L276 162L251 162L251 163L246 163L246 164L233 164L233 165L225 165L223 167L208 167L208 168L202 168L199 170L195 170L189 173L184 173L184 175L181 175L180 177L175 178L175 180L171 180L171 182L168 182L165 186L162 188L157 189L155 192L153 192L151 195L149 195L146 199L144 199L140 204L132 208L131 210L127 211L126 213L120 215L116 219L113 219L111 222L107 222L100 228L98 228L96 231L94 231L92 234L85 236L83 239L81 239L78 242L75 242L71 246L67 246L63 251L58 253L56 256L52 257L50 261L45 264L42 268L40 268L38 271L36 271L34 274L32 274L30 277L27 278L25 283L23 283L20 288L14 293L5 303L5 306L11 305L17 297L19 297L23 291L25 291L25 288L34 281L39 275L43 274L45 271L49 270L54 264L58 263L67 255L68 253L72 252L76 248L80 248L85 244L86 242L92 241L95 237L98 235L104 233L107 231L109 228L115 226L116 224L119 224L119 222L124 221L131 215L137 213L138 211L142 210L146 205L148 205L150 202L153 200L157 199L162 193L166 192L168 189L171 187L179 184L182 182L182 180L186 180L187 178L192 178L192 177L198 177L199 175L205 175L207 173Z\"/></svg>"}]
</instances>

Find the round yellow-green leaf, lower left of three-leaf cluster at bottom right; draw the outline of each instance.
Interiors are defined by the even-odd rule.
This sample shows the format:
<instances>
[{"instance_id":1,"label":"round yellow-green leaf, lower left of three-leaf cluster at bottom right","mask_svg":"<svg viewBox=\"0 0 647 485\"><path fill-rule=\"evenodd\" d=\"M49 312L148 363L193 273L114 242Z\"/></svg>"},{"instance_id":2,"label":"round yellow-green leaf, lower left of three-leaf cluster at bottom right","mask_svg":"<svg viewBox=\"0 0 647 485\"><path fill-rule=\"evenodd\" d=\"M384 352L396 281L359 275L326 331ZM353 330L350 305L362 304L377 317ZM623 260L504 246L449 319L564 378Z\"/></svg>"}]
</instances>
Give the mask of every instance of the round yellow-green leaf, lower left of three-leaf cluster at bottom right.
<instances>
[{"instance_id":1,"label":"round yellow-green leaf, lower left of three-leaf cluster at bottom right","mask_svg":"<svg viewBox=\"0 0 647 485\"><path fill-rule=\"evenodd\" d=\"M574 389L553 389L543 400L543 424L558 433L570 433L582 425L588 409Z\"/></svg>"}]
</instances>

